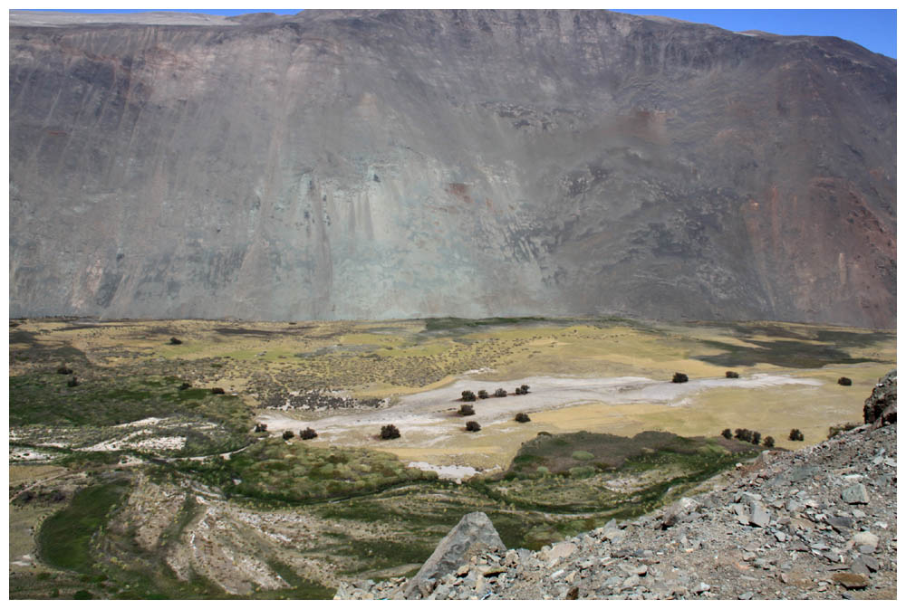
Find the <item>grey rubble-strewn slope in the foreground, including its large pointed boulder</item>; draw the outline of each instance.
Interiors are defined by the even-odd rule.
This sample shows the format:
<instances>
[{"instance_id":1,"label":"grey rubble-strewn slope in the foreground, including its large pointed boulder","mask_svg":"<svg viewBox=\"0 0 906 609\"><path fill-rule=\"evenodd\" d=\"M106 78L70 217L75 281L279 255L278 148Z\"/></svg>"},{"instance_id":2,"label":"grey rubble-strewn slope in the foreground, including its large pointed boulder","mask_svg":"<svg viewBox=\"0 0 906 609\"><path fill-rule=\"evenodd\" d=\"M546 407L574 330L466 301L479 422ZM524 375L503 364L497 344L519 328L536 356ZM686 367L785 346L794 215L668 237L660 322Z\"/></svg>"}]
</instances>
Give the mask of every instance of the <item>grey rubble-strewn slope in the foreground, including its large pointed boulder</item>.
<instances>
[{"instance_id":1,"label":"grey rubble-strewn slope in the foreground, including its large pointed boulder","mask_svg":"<svg viewBox=\"0 0 906 609\"><path fill-rule=\"evenodd\" d=\"M700 494L537 552L506 549L471 514L411 581L344 584L336 598L896 598L892 375L879 384L891 424L763 452Z\"/></svg>"}]
</instances>

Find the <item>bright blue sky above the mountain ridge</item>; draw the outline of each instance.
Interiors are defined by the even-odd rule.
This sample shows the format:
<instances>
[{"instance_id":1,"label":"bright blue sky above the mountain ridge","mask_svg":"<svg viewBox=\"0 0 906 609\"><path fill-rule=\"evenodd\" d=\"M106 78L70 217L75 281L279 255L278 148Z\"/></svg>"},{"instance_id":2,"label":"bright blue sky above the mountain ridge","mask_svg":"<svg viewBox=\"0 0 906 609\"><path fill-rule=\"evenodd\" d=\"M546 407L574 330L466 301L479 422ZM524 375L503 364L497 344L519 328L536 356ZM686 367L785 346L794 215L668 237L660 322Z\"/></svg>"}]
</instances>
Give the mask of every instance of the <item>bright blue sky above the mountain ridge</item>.
<instances>
[{"instance_id":1,"label":"bright blue sky above the mountain ridge","mask_svg":"<svg viewBox=\"0 0 906 609\"><path fill-rule=\"evenodd\" d=\"M228 4L228 3L224 3ZM367 3L366 3L367 4ZM430 4L430 3L427 3ZM531 4L531 3L525 3ZM342 3L340 4L342 5ZM388 3L394 6L394 3ZM548 4L550 5L550 4ZM81 9L63 9L70 12ZM163 9L152 9L163 10ZM295 14L300 9L176 9L187 13L243 14L277 13ZM812 36L838 36L863 45L873 52L888 57L897 56L896 10L873 9L613 9L631 14L661 14L700 24L717 25L734 32L762 30L780 34L807 34ZM92 13L133 13L140 9L97 9Z\"/></svg>"}]
</instances>

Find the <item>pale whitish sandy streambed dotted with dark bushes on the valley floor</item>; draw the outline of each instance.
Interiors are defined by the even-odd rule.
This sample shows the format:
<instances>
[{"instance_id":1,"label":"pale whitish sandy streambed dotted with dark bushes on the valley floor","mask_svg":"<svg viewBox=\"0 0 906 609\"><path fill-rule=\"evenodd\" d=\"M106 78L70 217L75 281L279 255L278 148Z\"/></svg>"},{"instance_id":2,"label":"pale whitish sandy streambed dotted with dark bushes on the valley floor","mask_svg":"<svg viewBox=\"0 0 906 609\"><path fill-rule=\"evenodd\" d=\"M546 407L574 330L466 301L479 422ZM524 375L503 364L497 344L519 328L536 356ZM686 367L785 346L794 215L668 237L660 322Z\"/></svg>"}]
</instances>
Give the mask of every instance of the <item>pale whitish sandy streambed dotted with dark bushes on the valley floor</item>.
<instances>
[{"instance_id":1,"label":"pale whitish sandy streambed dotted with dark bushes on the valley floor","mask_svg":"<svg viewBox=\"0 0 906 609\"><path fill-rule=\"evenodd\" d=\"M529 385L528 395L513 395L516 386ZM477 468L478 471L496 466L506 466L516 452L518 444L537 433L535 425L514 423L516 413L529 415L545 413L548 418L555 411L580 404L602 404L602 407L625 404L660 404L660 407L694 408L696 402L710 391L740 392L761 391L781 385L820 386L824 381L797 376L755 374L743 378L702 378L688 383L652 380L643 376L617 376L605 378L532 376L512 380L506 385L499 381L478 381L460 378L452 385L439 389L405 395L393 406L381 410L348 410L324 414L313 418L311 414L294 418L289 414L265 411L258 415L271 433L284 430L299 431L311 426L318 433L314 445L335 444L367 446L394 452L404 460L427 462L438 466ZM472 403L473 416L458 414L458 401L462 391L477 393L485 389L488 394L502 387L510 395L489 397ZM477 421L479 433L464 431L465 422ZM381 426L395 424L401 437L392 442L381 442ZM719 430L718 430L719 431ZM457 470L454 474L464 473Z\"/></svg>"}]
</instances>

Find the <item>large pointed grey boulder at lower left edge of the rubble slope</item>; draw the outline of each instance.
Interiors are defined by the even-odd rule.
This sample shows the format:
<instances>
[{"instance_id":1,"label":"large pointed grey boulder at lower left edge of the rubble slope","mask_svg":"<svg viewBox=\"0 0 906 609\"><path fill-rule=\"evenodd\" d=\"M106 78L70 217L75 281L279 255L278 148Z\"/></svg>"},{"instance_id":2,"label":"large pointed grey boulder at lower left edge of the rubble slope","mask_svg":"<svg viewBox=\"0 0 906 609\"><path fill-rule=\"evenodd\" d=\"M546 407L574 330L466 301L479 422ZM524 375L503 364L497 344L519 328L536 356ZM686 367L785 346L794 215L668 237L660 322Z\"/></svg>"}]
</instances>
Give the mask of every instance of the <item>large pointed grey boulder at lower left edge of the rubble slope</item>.
<instances>
[{"instance_id":1,"label":"large pointed grey boulder at lower left edge of the rubble slope","mask_svg":"<svg viewBox=\"0 0 906 609\"><path fill-rule=\"evenodd\" d=\"M487 514L484 512L466 514L459 520L458 525L450 530L447 537L440 540L434 553L421 566L419 573L410 580L406 587L406 596L410 597L419 589L422 582L456 572L469 558L487 550L506 552L506 546L491 520L487 518Z\"/></svg>"}]
</instances>

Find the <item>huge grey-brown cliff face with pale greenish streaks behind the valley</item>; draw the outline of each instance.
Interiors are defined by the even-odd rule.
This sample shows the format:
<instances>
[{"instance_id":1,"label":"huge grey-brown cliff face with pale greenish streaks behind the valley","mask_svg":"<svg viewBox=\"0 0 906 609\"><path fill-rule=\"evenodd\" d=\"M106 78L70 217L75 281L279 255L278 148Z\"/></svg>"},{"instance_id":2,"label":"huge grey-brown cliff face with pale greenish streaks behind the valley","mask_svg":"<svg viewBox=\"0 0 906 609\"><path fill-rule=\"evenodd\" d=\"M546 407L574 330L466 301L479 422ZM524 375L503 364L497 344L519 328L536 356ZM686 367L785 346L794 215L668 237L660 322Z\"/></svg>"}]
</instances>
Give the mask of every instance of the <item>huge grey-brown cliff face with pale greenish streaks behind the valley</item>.
<instances>
[{"instance_id":1,"label":"huge grey-brown cliff face with pale greenish streaks behind the valley","mask_svg":"<svg viewBox=\"0 0 906 609\"><path fill-rule=\"evenodd\" d=\"M896 62L853 43L598 11L36 19L11 14L13 316L895 325Z\"/></svg>"}]
</instances>

